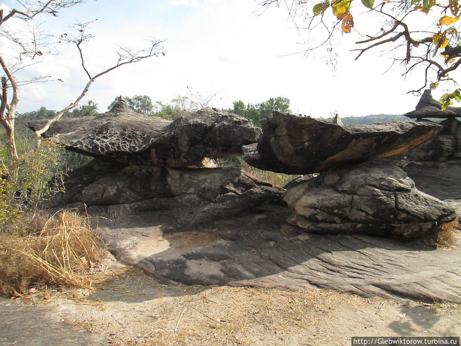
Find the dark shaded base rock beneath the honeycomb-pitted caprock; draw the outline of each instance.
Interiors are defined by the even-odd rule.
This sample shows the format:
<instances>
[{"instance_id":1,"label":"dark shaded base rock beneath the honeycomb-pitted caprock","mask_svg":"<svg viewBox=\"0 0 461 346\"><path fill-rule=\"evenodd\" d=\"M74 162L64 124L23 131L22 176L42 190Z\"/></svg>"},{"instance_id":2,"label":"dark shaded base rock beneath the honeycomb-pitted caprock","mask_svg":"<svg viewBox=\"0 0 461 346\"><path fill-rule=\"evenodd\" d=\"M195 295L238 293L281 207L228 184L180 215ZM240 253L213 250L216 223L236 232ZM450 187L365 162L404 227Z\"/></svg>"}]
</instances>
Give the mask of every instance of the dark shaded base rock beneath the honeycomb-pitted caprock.
<instances>
[{"instance_id":1,"label":"dark shaded base rock beneath the honeycomb-pitted caprock","mask_svg":"<svg viewBox=\"0 0 461 346\"><path fill-rule=\"evenodd\" d=\"M285 205L282 188L234 168L173 169L114 164L94 159L74 170L66 192L47 208L81 207L93 215L176 209L190 225L252 211L267 203Z\"/></svg>"}]
</instances>

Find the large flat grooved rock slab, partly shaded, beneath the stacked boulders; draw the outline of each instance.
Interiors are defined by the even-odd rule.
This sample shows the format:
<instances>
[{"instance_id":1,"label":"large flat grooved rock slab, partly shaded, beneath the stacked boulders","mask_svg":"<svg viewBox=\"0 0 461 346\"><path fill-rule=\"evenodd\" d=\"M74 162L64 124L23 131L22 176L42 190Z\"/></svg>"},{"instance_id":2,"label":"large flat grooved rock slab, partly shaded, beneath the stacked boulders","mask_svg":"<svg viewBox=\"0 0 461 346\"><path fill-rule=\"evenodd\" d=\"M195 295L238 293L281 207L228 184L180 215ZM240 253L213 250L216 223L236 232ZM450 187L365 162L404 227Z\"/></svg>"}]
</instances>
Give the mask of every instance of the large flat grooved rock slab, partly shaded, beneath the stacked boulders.
<instances>
[{"instance_id":1,"label":"large flat grooved rock slab, partly shaded, beneath the stacked boulders","mask_svg":"<svg viewBox=\"0 0 461 346\"><path fill-rule=\"evenodd\" d=\"M162 283L323 287L461 303L461 247L421 248L393 238L307 234L286 207L179 225L171 211L100 220L108 250Z\"/></svg>"}]
</instances>

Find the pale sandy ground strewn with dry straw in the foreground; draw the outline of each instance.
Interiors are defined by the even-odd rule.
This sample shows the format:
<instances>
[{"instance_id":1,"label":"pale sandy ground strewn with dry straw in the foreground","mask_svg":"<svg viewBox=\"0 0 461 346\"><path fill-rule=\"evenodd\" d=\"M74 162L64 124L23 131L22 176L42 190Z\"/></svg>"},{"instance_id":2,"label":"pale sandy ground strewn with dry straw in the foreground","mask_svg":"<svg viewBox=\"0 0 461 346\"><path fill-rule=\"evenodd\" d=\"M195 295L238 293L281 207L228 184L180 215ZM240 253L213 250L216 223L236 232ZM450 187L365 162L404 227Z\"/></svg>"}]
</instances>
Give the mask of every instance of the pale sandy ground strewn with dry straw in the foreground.
<instances>
[{"instance_id":1,"label":"pale sandy ground strewn with dry straw in the foreground","mask_svg":"<svg viewBox=\"0 0 461 346\"><path fill-rule=\"evenodd\" d=\"M461 335L456 304L323 289L164 286L110 256L100 271L107 279L95 292L36 292L23 300L115 345L350 345L352 336Z\"/></svg>"}]
</instances>

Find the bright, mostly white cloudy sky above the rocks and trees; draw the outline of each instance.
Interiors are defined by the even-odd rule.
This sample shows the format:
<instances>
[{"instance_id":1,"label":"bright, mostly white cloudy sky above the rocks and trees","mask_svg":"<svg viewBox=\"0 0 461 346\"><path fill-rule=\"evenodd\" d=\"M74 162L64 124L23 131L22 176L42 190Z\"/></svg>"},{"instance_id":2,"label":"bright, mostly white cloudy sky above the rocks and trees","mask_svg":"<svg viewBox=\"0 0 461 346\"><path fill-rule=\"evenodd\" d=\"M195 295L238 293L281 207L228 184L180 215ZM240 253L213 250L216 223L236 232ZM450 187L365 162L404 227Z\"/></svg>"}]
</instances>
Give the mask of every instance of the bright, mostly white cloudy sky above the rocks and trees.
<instances>
[{"instance_id":1,"label":"bright, mostly white cloudy sky above the rocks and trees","mask_svg":"<svg viewBox=\"0 0 461 346\"><path fill-rule=\"evenodd\" d=\"M14 1L0 0L2 8L15 6ZM148 95L167 103L191 96L191 89L202 96L216 93L211 106L217 108L232 108L235 100L257 104L287 97L292 112L314 117L403 114L413 110L419 98L407 92L421 86L422 75L404 79L401 69L386 72L391 56L378 52L354 60L357 53L350 50L356 48L357 37L339 33L334 38L334 66L328 64L330 53L325 49L307 56L293 54L303 50L299 43L307 39L306 33L294 28L286 9L261 11L258 1L87 0L62 10L59 17L41 17L40 22L60 35L71 32L75 21L94 19L88 29L94 38L82 47L93 74L116 62L118 46L139 48L146 39L157 38L164 40L165 53L96 79L83 100L94 100L100 112L106 112L117 95ZM360 24L356 17L355 27ZM59 55L47 55L20 71L22 78L50 75L55 81L22 87L18 112L41 106L60 110L83 90L87 77L77 50L65 44L56 49ZM443 93L437 90L433 95Z\"/></svg>"}]
</instances>

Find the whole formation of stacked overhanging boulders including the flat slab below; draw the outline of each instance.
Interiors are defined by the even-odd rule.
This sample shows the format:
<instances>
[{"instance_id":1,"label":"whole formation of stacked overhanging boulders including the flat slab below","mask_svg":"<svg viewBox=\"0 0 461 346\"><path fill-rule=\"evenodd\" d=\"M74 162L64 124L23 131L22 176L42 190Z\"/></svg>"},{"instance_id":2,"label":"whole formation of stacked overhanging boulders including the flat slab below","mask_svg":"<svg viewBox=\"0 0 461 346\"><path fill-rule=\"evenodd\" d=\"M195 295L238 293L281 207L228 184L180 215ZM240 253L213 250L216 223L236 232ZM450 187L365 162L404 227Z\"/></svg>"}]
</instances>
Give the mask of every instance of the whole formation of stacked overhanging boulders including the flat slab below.
<instances>
[{"instance_id":1,"label":"whole formation of stacked overhanging boulders including the flat slab below","mask_svg":"<svg viewBox=\"0 0 461 346\"><path fill-rule=\"evenodd\" d=\"M390 160L359 164L420 147L440 129L425 122L346 127L339 117L333 124L275 112L256 144L261 130L233 114L208 108L170 122L119 103L47 133L98 157L71 172L66 192L48 207L85 203L91 215L106 216L97 226L107 248L162 283L320 286L459 302L461 250L423 251L417 238L454 220L454 208L418 191ZM241 145L257 167L323 173L299 177L286 191L238 169L185 168L240 153Z\"/></svg>"}]
</instances>

